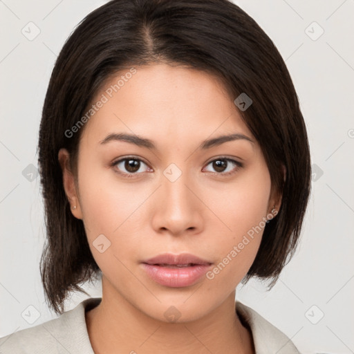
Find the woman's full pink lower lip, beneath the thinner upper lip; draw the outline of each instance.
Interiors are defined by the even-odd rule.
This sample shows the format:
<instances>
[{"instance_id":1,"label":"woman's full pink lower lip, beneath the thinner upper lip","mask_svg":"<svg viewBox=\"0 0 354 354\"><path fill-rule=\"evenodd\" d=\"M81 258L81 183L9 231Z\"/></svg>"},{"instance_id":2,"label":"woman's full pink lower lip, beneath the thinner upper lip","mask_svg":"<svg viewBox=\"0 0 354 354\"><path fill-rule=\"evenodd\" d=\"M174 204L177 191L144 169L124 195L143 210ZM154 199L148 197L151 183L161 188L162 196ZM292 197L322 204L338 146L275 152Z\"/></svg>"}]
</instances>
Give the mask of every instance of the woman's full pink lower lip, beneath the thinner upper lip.
<instances>
[{"instance_id":1,"label":"woman's full pink lower lip, beneath the thinner upper lip","mask_svg":"<svg viewBox=\"0 0 354 354\"><path fill-rule=\"evenodd\" d=\"M201 279L211 265L192 265L190 267L169 268L161 265L142 263L151 279L170 288L191 286Z\"/></svg>"}]
</instances>

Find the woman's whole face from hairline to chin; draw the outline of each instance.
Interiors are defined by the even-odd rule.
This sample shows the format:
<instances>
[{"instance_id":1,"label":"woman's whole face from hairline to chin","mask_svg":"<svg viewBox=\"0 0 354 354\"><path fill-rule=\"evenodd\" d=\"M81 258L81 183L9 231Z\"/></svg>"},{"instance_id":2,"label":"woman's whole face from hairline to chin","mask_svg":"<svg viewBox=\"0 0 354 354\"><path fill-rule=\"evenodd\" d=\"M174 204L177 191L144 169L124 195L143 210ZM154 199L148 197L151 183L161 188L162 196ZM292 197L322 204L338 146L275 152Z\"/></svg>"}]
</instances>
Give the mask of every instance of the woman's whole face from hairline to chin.
<instances>
[{"instance_id":1,"label":"woman's whole face from hairline to chin","mask_svg":"<svg viewBox=\"0 0 354 354\"><path fill-rule=\"evenodd\" d=\"M64 169L66 193L102 270L104 297L162 321L171 306L180 319L198 319L234 295L254 261L278 206L268 167L215 77L156 64L125 75L115 92L121 75L93 100L104 103L82 132L76 188ZM239 138L205 143L230 134ZM162 254L170 257L146 264Z\"/></svg>"}]
</instances>

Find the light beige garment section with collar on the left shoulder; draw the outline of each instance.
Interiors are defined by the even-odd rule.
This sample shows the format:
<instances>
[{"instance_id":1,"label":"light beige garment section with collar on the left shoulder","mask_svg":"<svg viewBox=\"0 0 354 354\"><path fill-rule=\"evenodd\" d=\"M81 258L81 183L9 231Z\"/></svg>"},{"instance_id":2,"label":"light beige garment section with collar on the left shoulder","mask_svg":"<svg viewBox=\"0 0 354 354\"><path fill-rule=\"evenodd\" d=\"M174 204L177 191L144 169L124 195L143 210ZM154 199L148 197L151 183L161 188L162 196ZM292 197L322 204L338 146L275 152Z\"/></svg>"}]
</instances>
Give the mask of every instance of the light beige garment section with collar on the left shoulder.
<instances>
[{"instance_id":1,"label":"light beige garment section with collar on the left shoulder","mask_svg":"<svg viewBox=\"0 0 354 354\"><path fill-rule=\"evenodd\" d=\"M100 298L86 299L56 319L0 338L0 353L93 354L86 329L85 308L99 302Z\"/></svg>"}]
</instances>

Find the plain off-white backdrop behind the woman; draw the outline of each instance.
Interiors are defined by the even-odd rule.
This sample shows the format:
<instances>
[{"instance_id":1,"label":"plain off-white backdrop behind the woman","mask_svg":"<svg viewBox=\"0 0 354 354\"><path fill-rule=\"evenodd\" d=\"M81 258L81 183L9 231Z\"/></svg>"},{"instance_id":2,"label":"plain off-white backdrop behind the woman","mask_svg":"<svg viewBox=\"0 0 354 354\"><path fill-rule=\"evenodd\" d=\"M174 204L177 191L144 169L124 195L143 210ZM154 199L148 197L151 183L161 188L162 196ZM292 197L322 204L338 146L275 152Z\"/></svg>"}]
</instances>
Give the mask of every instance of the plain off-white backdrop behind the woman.
<instances>
[{"instance_id":1,"label":"plain off-white backdrop behind the woman","mask_svg":"<svg viewBox=\"0 0 354 354\"><path fill-rule=\"evenodd\" d=\"M44 302L39 277L45 238L36 176L41 107L64 41L104 2L0 1L0 337L57 317ZM286 333L301 353L354 353L354 1L235 3L286 60L313 163L295 257L272 290L253 280L238 287L236 298ZM92 297L101 294L100 283L86 289ZM66 310L85 298L73 294Z\"/></svg>"}]
</instances>

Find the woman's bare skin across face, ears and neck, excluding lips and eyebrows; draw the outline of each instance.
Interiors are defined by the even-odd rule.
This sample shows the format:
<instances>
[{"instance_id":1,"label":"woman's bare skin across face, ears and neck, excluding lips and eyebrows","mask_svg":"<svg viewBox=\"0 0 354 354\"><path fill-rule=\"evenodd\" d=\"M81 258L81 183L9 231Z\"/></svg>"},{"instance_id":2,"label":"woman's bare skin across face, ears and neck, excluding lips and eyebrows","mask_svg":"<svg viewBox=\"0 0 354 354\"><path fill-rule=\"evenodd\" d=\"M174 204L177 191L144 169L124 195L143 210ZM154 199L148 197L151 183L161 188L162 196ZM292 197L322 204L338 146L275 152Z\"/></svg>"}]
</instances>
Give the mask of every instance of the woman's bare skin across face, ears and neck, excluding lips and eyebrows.
<instances>
[{"instance_id":1,"label":"woman's bare skin across face, ears and neck, excluding lips and eyebrows","mask_svg":"<svg viewBox=\"0 0 354 354\"><path fill-rule=\"evenodd\" d=\"M93 101L116 82L111 77ZM149 138L156 150L123 141L100 144L110 133ZM230 133L254 142L197 149L205 139ZM126 156L143 161L137 172L124 162L111 166ZM226 162L225 171L234 174L223 176L210 163L223 156L243 167ZM86 122L77 183L68 168L68 151L61 149L58 158L64 189L77 206L73 215L84 222L102 270L102 302L86 313L96 354L254 353L252 333L236 315L234 299L263 230L214 279L202 277L192 286L162 286L140 264L165 252L189 252L217 265L273 205L280 207L261 148L216 77L167 64L137 67ZM174 182L163 174L171 163L182 172ZM93 245L100 234L111 242L103 253ZM170 306L180 313L176 323L164 315Z\"/></svg>"}]
</instances>

